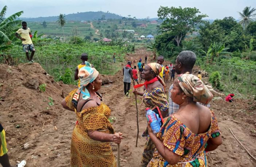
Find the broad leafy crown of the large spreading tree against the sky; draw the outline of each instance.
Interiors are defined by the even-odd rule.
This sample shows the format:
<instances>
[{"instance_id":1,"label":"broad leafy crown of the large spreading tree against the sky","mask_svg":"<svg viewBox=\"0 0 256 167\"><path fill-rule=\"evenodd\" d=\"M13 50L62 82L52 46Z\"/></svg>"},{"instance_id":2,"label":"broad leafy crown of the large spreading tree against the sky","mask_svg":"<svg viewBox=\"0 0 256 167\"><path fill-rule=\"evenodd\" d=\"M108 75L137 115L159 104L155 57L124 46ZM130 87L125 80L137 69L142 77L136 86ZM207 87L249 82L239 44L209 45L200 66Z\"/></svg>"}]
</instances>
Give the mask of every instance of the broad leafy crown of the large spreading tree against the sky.
<instances>
[{"instance_id":1,"label":"broad leafy crown of the large spreading tree against the sky","mask_svg":"<svg viewBox=\"0 0 256 167\"><path fill-rule=\"evenodd\" d=\"M198 15L201 13L197 8L175 8L175 7L160 7L158 9L158 17L164 20L160 25L160 31L170 31L175 35L174 40L177 42L177 46L181 43L181 40L185 37L186 33L193 31L195 25L202 23L202 18L207 15Z\"/></svg>"}]
</instances>

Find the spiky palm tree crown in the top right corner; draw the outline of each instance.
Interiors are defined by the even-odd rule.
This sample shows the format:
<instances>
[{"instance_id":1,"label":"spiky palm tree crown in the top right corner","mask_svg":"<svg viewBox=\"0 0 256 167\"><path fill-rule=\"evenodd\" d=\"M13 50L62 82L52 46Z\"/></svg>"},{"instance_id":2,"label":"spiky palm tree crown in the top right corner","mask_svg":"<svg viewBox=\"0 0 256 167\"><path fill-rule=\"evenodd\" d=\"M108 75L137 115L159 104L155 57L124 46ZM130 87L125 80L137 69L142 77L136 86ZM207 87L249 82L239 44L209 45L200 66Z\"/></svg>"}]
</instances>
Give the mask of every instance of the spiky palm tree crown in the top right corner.
<instances>
[{"instance_id":1,"label":"spiky palm tree crown in the top right corner","mask_svg":"<svg viewBox=\"0 0 256 167\"><path fill-rule=\"evenodd\" d=\"M256 9L255 8L251 9L251 6L250 6L250 7L245 7L243 10L243 13L238 12L239 15L241 16L240 17L241 21L239 23L243 25L244 29L247 27L247 25L251 21L253 21L252 16L256 15L256 13L253 14L253 12L255 12L255 11L256 11Z\"/></svg>"}]
</instances>

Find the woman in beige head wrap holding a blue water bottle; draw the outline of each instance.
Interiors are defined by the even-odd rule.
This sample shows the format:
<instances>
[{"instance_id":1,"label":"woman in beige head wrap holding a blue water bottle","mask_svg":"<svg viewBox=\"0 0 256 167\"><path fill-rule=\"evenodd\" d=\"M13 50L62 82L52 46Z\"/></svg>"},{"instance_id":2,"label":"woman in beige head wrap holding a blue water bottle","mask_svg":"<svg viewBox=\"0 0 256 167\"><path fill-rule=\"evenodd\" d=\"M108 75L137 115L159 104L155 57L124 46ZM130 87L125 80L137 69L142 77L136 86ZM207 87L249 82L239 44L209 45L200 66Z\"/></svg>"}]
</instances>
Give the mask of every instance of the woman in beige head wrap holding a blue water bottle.
<instances>
[{"instance_id":1,"label":"woman in beige head wrap holding a blue water bottle","mask_svg":"<svg viewBox=\"0 0 256 167\"><path fill-rule=\"evenodd\" d=\"M222 144L216 116L207 104L213 95L203 82L192 74L181 74L174 80L172 101L179 104L175 114L164 119L160 132L148 132L156 146L148 167L206 167L205 151Z\"/></svg>"}]
</instances>

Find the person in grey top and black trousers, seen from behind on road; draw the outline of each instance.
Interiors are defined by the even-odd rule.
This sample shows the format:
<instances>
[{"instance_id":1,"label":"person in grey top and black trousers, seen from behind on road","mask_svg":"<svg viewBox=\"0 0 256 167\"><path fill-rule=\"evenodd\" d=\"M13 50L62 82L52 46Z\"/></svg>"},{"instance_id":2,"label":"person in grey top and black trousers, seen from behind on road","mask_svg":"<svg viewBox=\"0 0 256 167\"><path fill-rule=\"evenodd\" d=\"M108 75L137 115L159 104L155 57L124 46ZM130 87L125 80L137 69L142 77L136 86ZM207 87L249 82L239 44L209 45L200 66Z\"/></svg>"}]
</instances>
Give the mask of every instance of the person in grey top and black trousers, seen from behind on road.
<instances>
[{"instance_id":1,"label":"person in grey top and black trousers, seen from behind on road","mask_svg":"<svg viewBox=\"0 0 256 167\"><path fill-rule=\"evenodd\" d=\"M131 67L132 62L128 61L125 67L123 68L123 75L124 75L124 95L128 96L130 86L131 86L131 80L133 79L132 77L132 67Z\"/></svg>"}]
</instances>

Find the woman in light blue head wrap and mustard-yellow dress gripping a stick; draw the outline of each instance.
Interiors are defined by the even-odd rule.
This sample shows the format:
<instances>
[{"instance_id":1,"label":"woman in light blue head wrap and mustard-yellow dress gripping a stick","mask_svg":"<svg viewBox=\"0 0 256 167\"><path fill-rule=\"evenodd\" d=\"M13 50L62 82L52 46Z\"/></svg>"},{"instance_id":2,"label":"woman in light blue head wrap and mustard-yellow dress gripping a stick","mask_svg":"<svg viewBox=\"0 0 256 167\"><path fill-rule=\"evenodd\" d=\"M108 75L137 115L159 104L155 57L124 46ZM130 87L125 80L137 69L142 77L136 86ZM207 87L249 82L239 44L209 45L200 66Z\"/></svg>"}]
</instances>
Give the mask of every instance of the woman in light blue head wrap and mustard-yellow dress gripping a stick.
<instances>
[{"instance_id":1,"label":"woman in light blue head wrap and mustard-yellow dress gripping a stick","mask_svg":"<svg viewBox=\"0 0 256 167\"><path fill-rule=\"evenodd\" d=\"M96 93L101 77L95 68L82 67L78 77L81 87L62 100L62 106L75 111L77 124L71 139L71 167L115 167L110 142L121 143L121 133L115 133L108 118L110 108Z\"/></svg>"}]
</instances>

